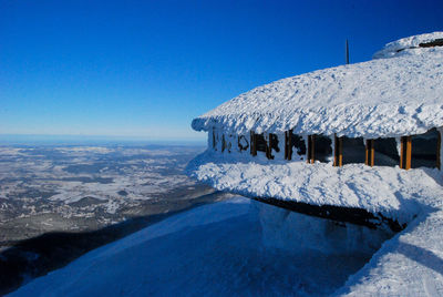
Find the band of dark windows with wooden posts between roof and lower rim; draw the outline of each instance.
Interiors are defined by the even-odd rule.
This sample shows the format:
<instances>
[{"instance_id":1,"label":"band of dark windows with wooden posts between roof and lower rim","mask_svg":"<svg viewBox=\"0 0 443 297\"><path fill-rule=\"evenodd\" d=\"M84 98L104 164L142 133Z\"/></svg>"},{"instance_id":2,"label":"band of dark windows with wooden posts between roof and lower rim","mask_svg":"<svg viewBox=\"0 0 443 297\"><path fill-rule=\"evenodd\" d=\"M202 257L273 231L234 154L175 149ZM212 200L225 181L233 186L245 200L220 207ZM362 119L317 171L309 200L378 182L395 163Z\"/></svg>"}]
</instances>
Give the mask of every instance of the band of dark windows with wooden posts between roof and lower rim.
<instances>
[{"instance_id":1,"label":"band of dark windows with wooden posts between roof and lower rim","mask_svg":"<svg viewBox=\"0 0 443 297\"><path fill-rule=\"evenodd\" d=\"M225 134L217 134L215 131L213 131L212 135L212 142L213 142L213 148L215 151L222 151L225 152L228 150L230 152L231 143L227 141L227 136ZM229 137L233 137L233 135L229 135ZM322 158L324 160L324 146L329 145L328 143L324 142L327 140L329 143L331 143L331 157L333 158L333 166L342 166L344 164L350 164L350 163L360 163L360 162L344 162L343 160L348 157L346 150L343 148L343 141L347 140L347 150L349 151L349 140L358 141L358 139L350 139L346 136L337 136L333 135L332 139L329 139L323 135L319 134L311 134L307 135L305 139L301 137L300 135L293 134L292 130L286 131L284 134L285 142L284 145L278 145L279 144L279 139L277 134L268 133L268 134L258 134L255 133L254 131L250 131L249 135L249 143L247 145L240 145L240 139L243 139L245 142L247 142L247 137L244 135L241 136L235 136L234 139L237 141L237 146L240 147L240 151L245 151L248 147L249 152L253 156L257 155L257 152L262 152L265 153L266 157L269 160L274 160L275 155L274 152L279 152L280 148L284 148L284 158L287 161L291 161L293 158L293 148L300 148L299 146L305 146L302 148L303 155L302 158L306 160L307 163L313 164L316 161L322 162ZM362 139L361 139L362 140ZM418 141L424 141L424 145L420 144L416 146L414 145L414 141L418 143ZM280 140L281 141L281 140ZM387 153L385 143L383 142L390 141L391 142L391 152ZM217 142L220 142L220 146L217 146ZM400 152L396 152L396 145L392 143L398 143L400 145ZM432 142L432 145L427 145L426 142ZM298 146L295 146L296 144ZM361 146L361 145L360 145ZM394 148L392 148L392 146ZM416 147L415 147L416 146ZM422 146L422 147L420 147ZM432 146L432 147L429 147ZM363 146L361 146L363 147ZM415 152L414 152L415 147ZM383 150L384 151L383 151ZM419 167L419 166L429 166L429 167L437 167L441 168L441 133L436 131L436 129L432 129L429 132L424 134L419 134L419 135L408 135L408 136L402 136L400 140L395 139L369 139L364 140L364 147L353 147L352 150L361 150L364 151L364 164L368 166L374 166L374 165L395 165L399 164L400 168L403 170L410 170L412 167ZM393 152L393 150L395 152ZM425 153L420 152L420 150L427 150ZM430 152L429 150L433 150ZM319 153L320 152L320 153ZM322 154L320 156L320 154ZM388 156L387 156L388 154ZM394 156L395 155L395 156ZM394 156L394 157L393 157ZM377 158L383 158L384 157L384 163L382 161L377 161ZM387 163L387 158L389 158L390 163ZM416 162L416 160L423 158L422 162L423 164L420 164L420 162ZM329 160L329 158L328 158ZM416 164L414 164L414 161ZM361 160L361 163L363 163L363 160Z\"/></svg>"}]
</instances>

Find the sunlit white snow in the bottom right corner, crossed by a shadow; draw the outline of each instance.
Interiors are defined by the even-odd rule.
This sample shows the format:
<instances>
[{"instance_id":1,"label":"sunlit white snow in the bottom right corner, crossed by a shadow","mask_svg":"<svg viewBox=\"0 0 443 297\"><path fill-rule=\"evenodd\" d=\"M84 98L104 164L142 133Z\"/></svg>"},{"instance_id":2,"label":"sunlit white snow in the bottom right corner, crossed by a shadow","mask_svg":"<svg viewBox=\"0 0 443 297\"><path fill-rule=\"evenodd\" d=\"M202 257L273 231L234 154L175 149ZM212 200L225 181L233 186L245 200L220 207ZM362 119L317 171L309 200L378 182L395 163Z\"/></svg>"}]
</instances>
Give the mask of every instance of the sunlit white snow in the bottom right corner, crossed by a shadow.
<instances>
[{"instance_id":1,"label":"sunlit white snow in the bottom right corner, crossed by a shadow","mask_svg":"<svg viewBox=\"0 0 443 297\"><path fill-rule=\"evenodd\" d=\"M429 209L333 296L443 296L443 211Z\"/></svg>"}]
</instances>

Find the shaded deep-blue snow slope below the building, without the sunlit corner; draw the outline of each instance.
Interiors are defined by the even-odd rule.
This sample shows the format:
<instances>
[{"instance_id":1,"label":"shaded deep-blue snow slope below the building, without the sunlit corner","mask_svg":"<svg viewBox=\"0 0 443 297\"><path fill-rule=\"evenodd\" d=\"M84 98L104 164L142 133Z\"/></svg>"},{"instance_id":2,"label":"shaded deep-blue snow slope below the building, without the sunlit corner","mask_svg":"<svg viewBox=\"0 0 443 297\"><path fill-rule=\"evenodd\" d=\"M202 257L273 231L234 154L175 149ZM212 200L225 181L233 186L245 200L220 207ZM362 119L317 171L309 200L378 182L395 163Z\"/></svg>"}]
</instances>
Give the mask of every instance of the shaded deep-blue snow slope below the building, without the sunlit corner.
<instances>
[{"instance_id":1,"label":"shaded deep-blue snow slope below the building, without the sunlit corner","mask_svg":"<svg viewBox=\"0 0 443 297\"><path fill-rule=\"evenodd\" d=\"M331 294L368 260L261 245L249 199L167 218L93 250L11 296L256 296Z\"/></svg>"}]
</instances>

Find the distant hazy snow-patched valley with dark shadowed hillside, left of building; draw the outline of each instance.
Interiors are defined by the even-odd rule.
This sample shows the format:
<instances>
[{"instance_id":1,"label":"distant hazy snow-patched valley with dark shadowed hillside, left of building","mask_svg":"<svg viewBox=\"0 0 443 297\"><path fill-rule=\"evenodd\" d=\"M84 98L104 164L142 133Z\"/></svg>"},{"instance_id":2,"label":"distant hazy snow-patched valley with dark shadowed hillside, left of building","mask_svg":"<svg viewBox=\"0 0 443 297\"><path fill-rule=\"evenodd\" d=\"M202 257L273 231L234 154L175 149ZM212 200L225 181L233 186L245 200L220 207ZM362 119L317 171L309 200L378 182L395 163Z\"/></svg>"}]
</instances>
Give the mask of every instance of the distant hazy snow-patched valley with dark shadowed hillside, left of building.
<instances>
[{"instance_id":1,"label":"distant hazy snow-patched valley with dark shadowed hillside, left of building","mask_svg":"<svg viewBox=\"0 0 443 297\"><path fill-rule=\"evenodd\" d=\"M0 145L0 295L169 214L228 197L184 175L199 144L58 142Z\"/></svg>"}]
</instances>

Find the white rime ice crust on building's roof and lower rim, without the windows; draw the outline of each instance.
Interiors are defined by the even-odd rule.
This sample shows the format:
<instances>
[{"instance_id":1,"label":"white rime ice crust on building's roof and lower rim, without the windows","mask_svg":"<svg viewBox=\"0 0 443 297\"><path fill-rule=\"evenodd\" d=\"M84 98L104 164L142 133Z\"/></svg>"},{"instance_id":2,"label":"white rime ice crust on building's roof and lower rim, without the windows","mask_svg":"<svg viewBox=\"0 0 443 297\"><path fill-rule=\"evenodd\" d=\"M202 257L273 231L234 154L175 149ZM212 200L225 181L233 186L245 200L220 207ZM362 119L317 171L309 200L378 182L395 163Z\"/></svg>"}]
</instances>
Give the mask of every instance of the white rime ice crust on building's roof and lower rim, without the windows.
<instances>
[{"instance_id":1,"label":"white rime ice crust on building's roof and lower rim, without the windows","mask_svg":"<svg viewBox=\"0 0 443 297\"><path fill-rule=\"evenodd\" d=\"M388 43L372 61L319 70L256 88L195 119L208 131L208 150L188 173L217 190L310 205L363 208L409 223L443 196L439 170L330 163L282 156L285 131L305 137L396 137L443 126L443 32ZM421 44L436 42L427 48ZM405 54L408 52L408 54ZM241 150L250 131L278 136L274 160ZM218 134L217 134L218 133ZM223 143L228 143L222 147ZM212 147L212 139L219 137ZM243 136L244 139L237 137ZM238 143L238 145L237 145ZM238 146L238 147L237 147ZM364 148L363 148L364 150ZM278 150L276 150L278 151ZM441 154L442 155L442 154ZM306 160L306 158L305 158Z\"/></svg>"}]
</instances>

